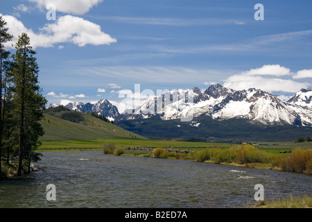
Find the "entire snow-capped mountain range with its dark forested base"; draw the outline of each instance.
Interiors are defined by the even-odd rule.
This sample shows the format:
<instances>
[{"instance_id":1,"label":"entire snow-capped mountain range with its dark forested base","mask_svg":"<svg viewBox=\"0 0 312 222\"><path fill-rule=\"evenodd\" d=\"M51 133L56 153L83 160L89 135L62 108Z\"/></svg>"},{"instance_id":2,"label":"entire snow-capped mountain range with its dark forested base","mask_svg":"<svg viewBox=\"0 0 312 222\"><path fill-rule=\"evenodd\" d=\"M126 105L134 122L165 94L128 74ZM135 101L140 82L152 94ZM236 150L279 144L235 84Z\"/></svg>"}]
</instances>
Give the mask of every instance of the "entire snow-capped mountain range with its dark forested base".
<instances>
[{"instance_id":1,"label":"entire snow-capped mountain range with its dark forested base","mask_svg":"<svg viewBox=\"0 0 312 222\"><path fill-rule=\"evenodd\" d=\"M311 133L311 99L312 89L301 89L284 102L261 89L234 90L216 84L203 92L193 87L159 94L130 113L119 113L106 99L66 107L101 113L122 128L146 137L248 137L259 133L273 137L278 131L282 138L281 132L289 134L289 130L298 135Z\"/></svg>"}]
</instances>

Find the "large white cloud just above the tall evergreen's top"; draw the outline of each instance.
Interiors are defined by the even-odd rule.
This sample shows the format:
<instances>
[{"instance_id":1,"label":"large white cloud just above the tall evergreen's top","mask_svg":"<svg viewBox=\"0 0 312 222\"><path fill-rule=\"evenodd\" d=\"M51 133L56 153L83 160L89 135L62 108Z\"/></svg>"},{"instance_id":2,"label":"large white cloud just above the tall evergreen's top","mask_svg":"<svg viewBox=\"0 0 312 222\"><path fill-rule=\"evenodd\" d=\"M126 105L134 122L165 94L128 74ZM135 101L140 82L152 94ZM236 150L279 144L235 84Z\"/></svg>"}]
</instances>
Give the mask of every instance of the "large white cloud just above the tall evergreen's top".
<instances>
[{"instance_id":1,"label":"large white cloud just above the tall evergreen's top","mask_svg":"<svg viewBox=\"0 0 312 222\"><path fill-rule=\"evenodd\" d=\"M33 48L39 46L53 47L54 44L65 42L78 46L85 46L86 44L109 45L116 42L116 39L101 31L101 26L71 15L59 17L55 23L46 24L40 28L40 33L34 33L33 30L26 28L22 22L11 15L3 15L3 19L7 22L8 32L14 35L12 42L6 43L7 47L14 44L21 33L29 35Z\"/></svg>"}]
</instances>

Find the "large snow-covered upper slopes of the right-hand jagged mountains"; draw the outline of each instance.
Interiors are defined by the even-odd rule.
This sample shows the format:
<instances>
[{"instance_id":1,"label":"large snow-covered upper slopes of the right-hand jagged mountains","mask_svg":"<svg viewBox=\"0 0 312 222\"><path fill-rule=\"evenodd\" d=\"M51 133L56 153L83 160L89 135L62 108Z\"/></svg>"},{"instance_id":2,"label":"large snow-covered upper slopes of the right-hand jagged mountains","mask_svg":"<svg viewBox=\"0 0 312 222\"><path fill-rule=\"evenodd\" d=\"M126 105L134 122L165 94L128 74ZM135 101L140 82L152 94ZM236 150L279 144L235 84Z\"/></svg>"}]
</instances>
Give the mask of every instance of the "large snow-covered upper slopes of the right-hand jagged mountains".
<instances>
[{"instance_id":1,"label":"large snow-covered upper slopes of the right-hand jagged mountains","mask_svg":"<svg viewBox=\"0 0 312 222\"><path fill-rule=\"evenodd\" d=\"M211 85L205 92L194 87L159 94L123 119L146 119L159 115L163 120L206 115L212 119L248 119L263 125L312 125L311 89L302 89L288 103L261 89L234 90Z\"/></svg>"}]
</instances>

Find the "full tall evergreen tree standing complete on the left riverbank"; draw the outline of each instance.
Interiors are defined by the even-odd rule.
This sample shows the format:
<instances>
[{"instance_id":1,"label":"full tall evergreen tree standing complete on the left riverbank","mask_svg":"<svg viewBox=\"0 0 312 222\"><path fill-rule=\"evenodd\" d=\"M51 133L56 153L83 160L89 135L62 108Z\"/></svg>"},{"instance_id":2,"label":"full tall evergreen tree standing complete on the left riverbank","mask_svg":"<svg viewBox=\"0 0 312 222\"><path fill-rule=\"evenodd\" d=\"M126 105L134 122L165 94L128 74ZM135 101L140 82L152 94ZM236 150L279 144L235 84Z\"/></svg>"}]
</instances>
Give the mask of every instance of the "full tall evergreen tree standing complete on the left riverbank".
<instances>
[{"instance_id":1,"label":"full tall evergreen tree standing complete on the left riverbank","mask_svg":"<svg viewBox=\"0 0 312 222\"><path fill-rule=\"evenodd\" d=\"M15 106L14 116L19 132L19 163L17 175L21 176L23 160L31 161L33 148L39 143L43 128L39 121L43 118L46 99L38 85L39 68L31 47L30 38L26 33L19 36L15 44L15 54L12 55L12 84L14 93L12 102Z\"/></svg>"}]
</instances>

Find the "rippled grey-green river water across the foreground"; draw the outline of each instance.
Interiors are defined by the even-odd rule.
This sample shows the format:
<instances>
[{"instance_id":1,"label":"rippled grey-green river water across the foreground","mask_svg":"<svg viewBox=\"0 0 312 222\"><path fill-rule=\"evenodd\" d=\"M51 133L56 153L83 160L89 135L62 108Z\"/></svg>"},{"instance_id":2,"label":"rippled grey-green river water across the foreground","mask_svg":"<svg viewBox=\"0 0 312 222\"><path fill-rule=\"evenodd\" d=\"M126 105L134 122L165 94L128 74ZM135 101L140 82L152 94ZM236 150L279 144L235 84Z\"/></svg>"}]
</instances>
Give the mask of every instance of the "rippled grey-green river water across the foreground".
<instances>
[{"instance_id":1,"label":"rippled grey-green river water across the foreground","mask_svg":"<svg viewBox=\"0 0 312 222\"><path fill-rule=\"evenodd\" d=\"M0 182L0 207L244 207L312 196L312 176L220 164L104 155L101 151L43 153L40 171ZM55 185L56 200L46 186Z\"/></svg>"}]
</instances>

